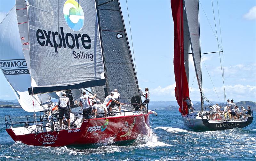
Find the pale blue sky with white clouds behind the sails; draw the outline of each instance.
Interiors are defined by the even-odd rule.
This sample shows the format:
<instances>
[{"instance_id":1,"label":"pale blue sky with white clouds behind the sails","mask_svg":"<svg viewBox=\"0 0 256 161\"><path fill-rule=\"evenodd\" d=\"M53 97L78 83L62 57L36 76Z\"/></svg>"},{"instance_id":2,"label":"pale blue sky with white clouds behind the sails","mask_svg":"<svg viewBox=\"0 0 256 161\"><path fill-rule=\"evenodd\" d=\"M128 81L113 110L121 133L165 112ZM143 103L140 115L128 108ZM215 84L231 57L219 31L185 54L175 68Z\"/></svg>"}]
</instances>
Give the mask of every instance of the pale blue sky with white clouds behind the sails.
<instances>
[{"instance_id":1,"label":"pale blue sky with white clouds behind the sails","mask_svg":"<svg viewBox=\"0 0 256 161\"><path fill-rule=\"evenodd\" d=\"M14 0L0 0L0 21L14 4ZM170 1L127 0L127 4L125 0L120 0L132 55L133 41L133 58L140 88L149 88L152 101L176 101L173 70L174 29ZM225 101L222 66L227 99L234 99L235 102L256 102L256 1L200 0L199 17L201 53L223 50L220 55L212 53L202 56L204 95L210 101ZM222 57L224 65L220 64ZM189 69L190 99L199 101L200 92L192 58ZM10 85L0 72L0 99L15 98Z\"/></svg>"}]
</instances>

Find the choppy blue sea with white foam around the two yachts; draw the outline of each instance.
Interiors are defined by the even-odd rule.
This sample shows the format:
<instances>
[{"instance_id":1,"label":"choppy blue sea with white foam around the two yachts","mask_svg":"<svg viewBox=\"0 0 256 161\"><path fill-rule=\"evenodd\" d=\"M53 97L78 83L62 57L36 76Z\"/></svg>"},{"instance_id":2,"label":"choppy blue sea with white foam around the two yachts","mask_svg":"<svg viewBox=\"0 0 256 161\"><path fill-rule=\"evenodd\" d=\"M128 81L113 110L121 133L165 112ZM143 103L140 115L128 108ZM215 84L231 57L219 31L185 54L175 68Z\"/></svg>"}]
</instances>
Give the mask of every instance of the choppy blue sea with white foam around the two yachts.
<instances>
[{"instance_id":1,"label":"choppy blue sea with white foam around the two yachts","mask_svg":"<svg viewBox=\"0 0 256 161\"><path fill-rule=\"evenodd\" d=\"M89 146L37 147L14 142L5 131L4 115L13 122L26 121L22 109L0 111L0 160L256 160L256 122L243 129L200 132L190 130L178 111L151 115L151 137L135 141ZM67 138L68 139L68 138Z\"/></svg>"}]
</instances>

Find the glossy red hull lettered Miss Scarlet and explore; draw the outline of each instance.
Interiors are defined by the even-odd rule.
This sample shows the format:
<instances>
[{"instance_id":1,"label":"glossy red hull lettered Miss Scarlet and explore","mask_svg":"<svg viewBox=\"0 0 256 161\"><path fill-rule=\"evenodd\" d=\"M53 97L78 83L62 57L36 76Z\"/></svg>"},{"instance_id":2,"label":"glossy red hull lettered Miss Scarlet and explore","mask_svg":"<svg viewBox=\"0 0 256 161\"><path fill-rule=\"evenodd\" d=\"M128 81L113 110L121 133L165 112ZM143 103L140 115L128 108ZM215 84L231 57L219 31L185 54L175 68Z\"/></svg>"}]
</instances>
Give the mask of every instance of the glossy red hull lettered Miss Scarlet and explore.
<instances>
[{"instance_id":1,"label":"glossy red hull lettered Miss Scarlet and explore","mask_svg":"<svg viewBox=\"0 0 256 161\"><path fill-rule=\"evenodd\" d=\"M38 134L15 135L12 128L6 129L12 139L27 145L65 146L92 144L113 137L113 140L135 140L138 135L149 134L149 114L120 116L84 120L76 129L43 132Z\"/></svg>"}]
</instances>

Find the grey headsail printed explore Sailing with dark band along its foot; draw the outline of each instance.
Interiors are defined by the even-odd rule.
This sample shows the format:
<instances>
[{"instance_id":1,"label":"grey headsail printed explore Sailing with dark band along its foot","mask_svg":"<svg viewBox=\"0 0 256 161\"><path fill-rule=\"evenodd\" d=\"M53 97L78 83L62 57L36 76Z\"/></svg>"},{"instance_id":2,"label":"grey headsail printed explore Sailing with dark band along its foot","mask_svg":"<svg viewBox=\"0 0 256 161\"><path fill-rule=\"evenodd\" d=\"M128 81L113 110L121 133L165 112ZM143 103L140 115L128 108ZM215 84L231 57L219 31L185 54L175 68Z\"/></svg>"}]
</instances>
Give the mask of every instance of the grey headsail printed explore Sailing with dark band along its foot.
<instances>
[{"instance_id":1,"label":"grey headsail printed explore Sailing with dark band along its foot","mask_svg":"<svg viewBox=\"0 0 256 161\"><path fill-rule=\"evenodd\" d=\"M94 0L28 0L29 94L105 84Z\"/></svg>"}]
</instances>

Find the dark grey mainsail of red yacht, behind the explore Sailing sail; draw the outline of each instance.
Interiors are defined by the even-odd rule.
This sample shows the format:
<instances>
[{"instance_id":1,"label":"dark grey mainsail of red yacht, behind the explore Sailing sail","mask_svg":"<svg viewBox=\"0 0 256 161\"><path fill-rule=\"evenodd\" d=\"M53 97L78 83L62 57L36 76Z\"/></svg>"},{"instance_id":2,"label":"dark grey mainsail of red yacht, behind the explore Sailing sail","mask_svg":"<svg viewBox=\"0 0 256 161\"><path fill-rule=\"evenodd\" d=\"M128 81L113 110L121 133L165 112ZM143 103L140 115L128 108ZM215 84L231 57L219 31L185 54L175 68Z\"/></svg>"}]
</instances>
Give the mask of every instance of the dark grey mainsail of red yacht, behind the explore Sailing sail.
<instances>
[{"instance_id":1,"label":"dark grey mainsail of red yacht, behind the explore Sailing sail","mask_svg":"<svg viewBox=\"0 0 256 161\"><path fill-rule=\"evenodd\" d=\"M118 89L121 102L140 104L138 81L119 1L96 0L96 2L99 9L108 94ZM93 91L100 91L99 89L104 90L103 87L94 87ZM104 93L101 97L104 100Z\"/></svg>"}]
</instances>

